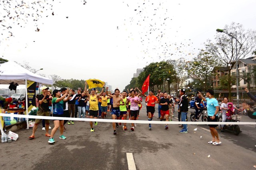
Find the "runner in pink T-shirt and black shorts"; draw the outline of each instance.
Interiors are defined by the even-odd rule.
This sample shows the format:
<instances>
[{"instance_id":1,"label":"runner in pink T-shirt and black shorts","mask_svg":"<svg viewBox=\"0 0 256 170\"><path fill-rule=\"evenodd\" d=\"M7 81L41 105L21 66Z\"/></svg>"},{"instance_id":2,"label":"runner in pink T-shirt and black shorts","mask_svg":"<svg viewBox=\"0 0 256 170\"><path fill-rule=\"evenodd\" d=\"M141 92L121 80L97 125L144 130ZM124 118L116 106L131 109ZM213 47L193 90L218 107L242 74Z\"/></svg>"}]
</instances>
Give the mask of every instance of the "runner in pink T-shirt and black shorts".
<instances>
[{"instance_id":1,"label":"runner in pink T-shirt and black shorts","mask_svg":"<svg viewBox=\"0 0 256 170\"><path fill-rule=\"evenodd\" d=\"M135 90L131 90L131 96L127 99L128 102L130 102L130 114L131 114L131 120L136 120L136 117L138 116L138 109L140 104L140 99L135 96ZM131 130L134 131L134 123L132 123Z\"/></svg>"}]
</instances>

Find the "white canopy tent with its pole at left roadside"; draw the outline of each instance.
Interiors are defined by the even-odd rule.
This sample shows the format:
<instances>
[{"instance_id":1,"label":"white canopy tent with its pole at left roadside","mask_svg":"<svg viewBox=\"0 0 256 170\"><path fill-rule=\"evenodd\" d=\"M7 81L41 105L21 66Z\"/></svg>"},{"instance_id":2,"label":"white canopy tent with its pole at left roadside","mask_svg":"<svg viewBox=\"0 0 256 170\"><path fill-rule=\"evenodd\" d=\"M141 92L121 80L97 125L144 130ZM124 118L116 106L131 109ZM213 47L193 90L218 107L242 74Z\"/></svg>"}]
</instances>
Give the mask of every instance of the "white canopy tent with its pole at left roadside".
<instances>
[{"instance_id":1,"label":"white canopy tent with its pole at left roadside","mask_svg":"<svg viewBox=\"0 0 256 170\"><path fill-rule=\"evenodd\" d=\"M53 80L50 78L45 78L33 72L30 72L26 68L23 68L19 64L8 61L6 63L0 64L0 84L10 84L11 82L24 84L27 87L27 80L43 83L43 84L53 84ZM28 91L26 90L26 99L28 99ZM26 115L28 115L28 102L26 102ZM27 128L28 128L28 118L27 118Z\"/></svg>"}]
</instances>

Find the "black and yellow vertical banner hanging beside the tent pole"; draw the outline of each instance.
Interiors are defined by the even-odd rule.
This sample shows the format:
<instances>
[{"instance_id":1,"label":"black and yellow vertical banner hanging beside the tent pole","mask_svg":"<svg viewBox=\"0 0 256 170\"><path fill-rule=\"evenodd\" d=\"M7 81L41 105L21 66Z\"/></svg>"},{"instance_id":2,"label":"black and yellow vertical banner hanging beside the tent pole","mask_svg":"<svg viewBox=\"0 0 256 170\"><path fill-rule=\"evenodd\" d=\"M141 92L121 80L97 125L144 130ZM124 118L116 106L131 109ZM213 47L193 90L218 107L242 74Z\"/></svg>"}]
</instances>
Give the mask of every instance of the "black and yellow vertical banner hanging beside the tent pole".
<instances>
[{"instance_id":1,"label":"black and yellow vertical banner hanging beside the tent pole","mask_svg":"<svg viewBox=\"0 0 256 170\"><path fill-rule=\"evenodd\" d=\"M26 102L28 101L28 113L29 113L33 106L36 107L36 82L32 82L30 80L27 80L27 82L28 82L28 89L27 89L28 98Z\"/></svg>"}]
</instances>

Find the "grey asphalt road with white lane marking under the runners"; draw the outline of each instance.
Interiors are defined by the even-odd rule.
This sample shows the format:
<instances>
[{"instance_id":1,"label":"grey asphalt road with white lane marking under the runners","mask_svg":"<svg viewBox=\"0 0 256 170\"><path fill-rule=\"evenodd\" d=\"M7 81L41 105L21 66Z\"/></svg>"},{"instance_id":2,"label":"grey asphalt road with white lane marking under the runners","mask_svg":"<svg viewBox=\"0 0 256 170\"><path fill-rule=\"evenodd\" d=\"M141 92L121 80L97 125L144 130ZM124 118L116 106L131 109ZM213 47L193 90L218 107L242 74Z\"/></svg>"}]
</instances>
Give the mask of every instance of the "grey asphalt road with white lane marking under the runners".
<instances>
[{"instance_id":1,"label":"grey asphalt road with white lane marking under the runners","mask_svg":"<svg viewBox=\"0 0 256 170\"><path fill-rule=\"evenodd\" d=\"M157 120L157 115L156 106L153 120ZM177 112L174 115L173 120L178 121ZM144 104L139 118L147 120ZM243 116L242 121L255 120ZM52 121L50 126L53 127ZM169 125L165 130L164 125L154 124L149 131L147 124L137 123L135 131L130 130L130 124L128 131L120 126L117 135L113 135L111 123L99 122L94 132L90 132L87 121L75 121L74 125L66 126L67 139L58 139L57 131L54 145L48 144L41 125L33 140L28 139L32 129L16 131L17 141L0 144L1 169L128 170L132 169L132 161L137 170L250 170L256 165L256 128L252 125L240 126L242 133L238 136L231 132L220 133L218 127L222 141L219 146L207 143L212 139L207 125L188 125L188 133L183 134L179 133L178 125Z\"/></svg>"}]
</instances>

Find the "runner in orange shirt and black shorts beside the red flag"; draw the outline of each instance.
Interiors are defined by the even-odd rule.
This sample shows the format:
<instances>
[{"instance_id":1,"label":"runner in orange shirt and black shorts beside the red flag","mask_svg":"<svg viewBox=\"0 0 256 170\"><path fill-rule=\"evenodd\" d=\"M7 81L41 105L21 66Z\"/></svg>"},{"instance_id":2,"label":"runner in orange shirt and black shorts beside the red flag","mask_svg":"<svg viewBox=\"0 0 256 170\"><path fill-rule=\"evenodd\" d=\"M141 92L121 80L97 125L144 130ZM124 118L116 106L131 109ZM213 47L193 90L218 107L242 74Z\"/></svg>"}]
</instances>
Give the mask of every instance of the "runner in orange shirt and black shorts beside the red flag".
<instances>
[{"instance_id":1,"label":"runner in orange shirt and black shorts beside the red flag","mask_svg":"<svg viewBox=\"0 0 256 170\"><path fill-rule=\"evenodd\" d=\"M152 121L152 117L155 113L155 105L156 103L158 103L158 98L156 96L153 95L153 91L149 90L149 95L146 97L145 100L146 104L147 104L147 114L148 114L148 121ZM148 124L149 130L151 130L151 124Z\"/></svg>"}]
</instances>

